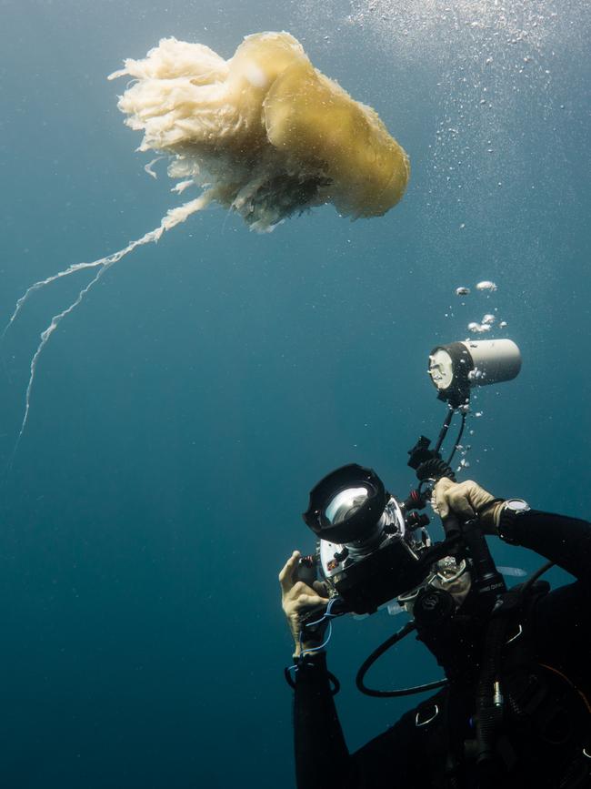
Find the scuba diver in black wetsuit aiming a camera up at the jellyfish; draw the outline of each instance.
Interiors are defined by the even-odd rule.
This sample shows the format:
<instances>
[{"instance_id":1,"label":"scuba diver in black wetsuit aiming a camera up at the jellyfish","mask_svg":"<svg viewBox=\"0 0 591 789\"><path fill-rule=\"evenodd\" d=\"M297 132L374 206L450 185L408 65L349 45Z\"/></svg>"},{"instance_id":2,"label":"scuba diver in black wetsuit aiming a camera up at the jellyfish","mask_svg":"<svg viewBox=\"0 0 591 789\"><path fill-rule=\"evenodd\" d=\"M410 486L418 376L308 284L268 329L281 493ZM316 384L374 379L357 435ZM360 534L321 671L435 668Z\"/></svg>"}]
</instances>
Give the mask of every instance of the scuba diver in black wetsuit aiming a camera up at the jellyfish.
<instances>
[{"instance_id":1,"label":"scuba diver in black wetsuit aiming a camera up at the jellyfish","mask_svg":"<svg viewBox=\"0 0 591 789\"><path fill-rule=\"evenodd\" d=\"M349 492L359 497L359 491L357 484L342 488L340 499L326 499L324 536L333 551L335 543L346 542L330 532L338 524L338 508L348 508L349 517L357 500L343 497ZM396 598L411 617L403 630L416 632L446 681L422 686L441 689L350 753L336 713L338 684L326 665L326 627L336 615L331 612L335 587L341 583L341 597L353 595L355 577L351 573L347 581L346 573L331 574L338 562L346 566L344 551L326 563L324 580L306 576L304 557L294 551L279 582L295 642L288 679L295 688L298 789L591 787L591 524L531 510L526 501L496 499L474 481L442 477L430 495L447 535L458 531L458 524L477 523L481 534L536 551L575 580L550 591L535 576L506 591L494 573L478 575L476 548L467 561L459 552L426 552L429 562L416 561L412 573L398 576ZM313 528L319 511L311 507L306 513ZM397 546L416 559L420 541L405 543L400 522ZM386 526L384 533L394 534L396 529ZM367 555L373 561L379 551L372 551ZM395 577L396 561L382 563L388 572L366 574L364 588L374 589L382 574ZM349 611L373 612L374 603L385 600L375 597L364 609L355 599ZM357 684L363 684L359 676Z\"/></svg>"}]
</instances>

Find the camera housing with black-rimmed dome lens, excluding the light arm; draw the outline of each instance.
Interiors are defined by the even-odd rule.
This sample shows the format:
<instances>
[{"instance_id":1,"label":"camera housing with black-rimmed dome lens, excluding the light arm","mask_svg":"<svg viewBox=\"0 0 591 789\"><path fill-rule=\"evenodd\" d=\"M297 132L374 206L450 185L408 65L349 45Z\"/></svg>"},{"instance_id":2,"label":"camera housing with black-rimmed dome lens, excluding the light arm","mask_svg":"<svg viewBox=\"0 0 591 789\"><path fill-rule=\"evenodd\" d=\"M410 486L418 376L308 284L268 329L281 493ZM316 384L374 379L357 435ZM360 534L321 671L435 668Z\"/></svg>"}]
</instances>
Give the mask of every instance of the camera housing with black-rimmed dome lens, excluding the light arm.
<instances>
[{"instance_id":1,"label":"camera housing with black-rimmed dome lens, excluding the light arm","mask_svg":"<svg viewBox=\"0 0 591 789\"><path fill-rule=\"evenodd\" d=\"M406 524L375 471L356 464L332 471L310 492L304 520L318 537L320 575L348 611L375 612L424 581L428 535L422 522Z\"/></svg>"}]
</instances>

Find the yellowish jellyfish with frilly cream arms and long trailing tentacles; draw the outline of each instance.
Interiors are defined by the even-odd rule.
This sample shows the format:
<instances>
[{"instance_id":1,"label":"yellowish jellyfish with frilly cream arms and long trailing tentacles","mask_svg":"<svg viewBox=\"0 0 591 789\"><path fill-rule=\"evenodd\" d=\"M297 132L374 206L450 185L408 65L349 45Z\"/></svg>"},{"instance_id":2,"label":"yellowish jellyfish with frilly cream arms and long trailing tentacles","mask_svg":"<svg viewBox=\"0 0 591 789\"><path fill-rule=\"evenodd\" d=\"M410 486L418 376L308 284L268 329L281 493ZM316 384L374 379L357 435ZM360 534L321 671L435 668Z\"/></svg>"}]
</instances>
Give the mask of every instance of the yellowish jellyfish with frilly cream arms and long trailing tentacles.
<instances>
[{"instance_id":1,"label":"yellowish jellyfish with frilly cream arms and long trailing tentacles","mask_svg":"<svg viewBox=\"0 0 591 789\"><path fill-rule=\"evenodd\" d=\"M288 33L248 35L225 60L203 44L164 38L144 59L127 59L109 79L131 77L119 96L125 124L143 132L139 150L168 159L173 191L200 193L169 209L160 225L125 248L75 263L35 282L18 299L5 331L40 288L85 269L94 277L41 333L25 395L27 422L37 362L59 326L115 263L155 243L217 203L257 232L332 203L353 219L379 217L403 197L409 177L404 149L370 106L318 71ZM4 336L4 335L3 335Z\"/></svg>"}]
</instances>

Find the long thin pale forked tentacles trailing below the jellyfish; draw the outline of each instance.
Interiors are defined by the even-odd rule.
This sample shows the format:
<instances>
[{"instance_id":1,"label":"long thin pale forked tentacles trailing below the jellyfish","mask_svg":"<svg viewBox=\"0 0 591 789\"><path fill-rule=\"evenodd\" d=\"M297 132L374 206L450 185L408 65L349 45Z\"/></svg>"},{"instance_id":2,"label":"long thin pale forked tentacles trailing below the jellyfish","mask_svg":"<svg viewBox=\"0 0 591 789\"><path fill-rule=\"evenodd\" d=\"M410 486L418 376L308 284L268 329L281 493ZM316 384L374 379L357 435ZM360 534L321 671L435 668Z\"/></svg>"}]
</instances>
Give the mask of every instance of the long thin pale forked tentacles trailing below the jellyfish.
<instances>
[{"instance_id":1,"label":"long thin pale forked tentacles trailing below the jellyfish","mask_svg":"<svg viewBox=\"0 0 591 789\"><path fill-rule=\"evenodd\" d=\"M95 286L98 280L105 274L109 268L115 265L121 258L124 258L125 255L129 254L129 252L133 251L136 247L141 247L145 244L155 243L158 241L163 233L166 230L170 230L175 228L176 225L179 225L181 222L184 222L185 219L191 216L191 214L195 214L196 211L201 211L207 205L215 199L215 189L209 189L205 191L199 197L196 197L194 200L190 200L188 203L184 203L182 206L178 206L175 208L170 208L165 217L162 218L160 222L160 226L155 228L154 230L150 230L150 232L145 233L145 236L142 238L138 238L135 241L132 241L131 244L128 244L124 249L119 249L118 252L114 252L112 255L107 256L106 258L101 258L100 260L95 260L92 264L83 264L84 268L98 268L98 271L95 274L95 277L85 285L82 290L78 293L77 298L70 304L69 307L66 307L61 312L54 315L51 319L49 326L41 332L40 342L35 350L35 354L33 355L33 359L31 359L31 366L29 371L29 382L26 387L26 394L25 394L25 415L23 417L23 422L21 424L21 429L18 433L18 437L15 442L15 449L13 450L13 457L15 456L16 450L18 449L18 445L20 440L23 437L23 433L25 432L26 423L29 418L29 410L31 408L31 392L33 390L33 385L35 383L35 373L37 369L37 363L45 349L45 346L49 342L52 334L55 332L55 329L59 326L63 319L71 312L75 310L75 308L81 303L81 301L85 298L85 295L89 292L91 288ZM76 268L77 267L77 268ZM26 295L31 292L32 288L38 289L43 287L44 284L49 284L50 282L55 281L56 278L62 276L67 276L67 274L73 274L75 271L80 270L81 264L75 264L74 266L70 266L66 268L64 271L60 272L60 274L55 274L53 277L49 277L46 280L43 280L41 283L35 283L38 287L31 286L25 293L24 297L21 297L20 301L21 304L23 303Z\"/></svg>"}]
</instances>

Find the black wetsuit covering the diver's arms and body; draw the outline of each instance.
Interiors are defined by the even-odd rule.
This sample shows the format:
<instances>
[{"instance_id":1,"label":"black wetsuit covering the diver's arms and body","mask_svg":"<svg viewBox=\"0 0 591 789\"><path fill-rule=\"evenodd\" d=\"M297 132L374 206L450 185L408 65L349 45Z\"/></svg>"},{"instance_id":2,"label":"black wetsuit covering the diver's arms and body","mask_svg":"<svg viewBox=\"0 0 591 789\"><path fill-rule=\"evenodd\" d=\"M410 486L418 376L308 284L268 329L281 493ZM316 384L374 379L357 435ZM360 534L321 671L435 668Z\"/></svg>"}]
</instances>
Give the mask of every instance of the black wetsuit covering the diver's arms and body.
<instances>
[{"instance_id":1,"label":"black wetsuit covering the diver's arms and body","mask_svg":"<svg viewBox=\"0 0 591 789\"><path fill-rule=\"evenodd\" d=\"M569 735L566 743L548 742L554 737L554 722L550 722L540 737L536 726L546 725L541 719L551 715L547 704L536 707L536 701L531 707L533 714L521 723L517 721L512 732L508 711L508 755L503 765L506 774L496 785L499 789L570 787L575 784L561 783L562 776L569 764L576 764L576 770L573 769L580 781L576 786L591 787L591 758L586 759L586 754L591 755L591 714L586 705L586 699L591 700L591 524L529 511L516 519L506 537L555 561L576 578L576 582L535 596L518 622L523 626L522 638L529 645L536 670L549 681L546 696L554 694L560 699L566 708L566 720L573 723L576 732ZM463 609L464 606L459 612ZM474 738L477 655L482 643L474 623L464 634L461 625L448 632L456 640L455 663L448 657L449 643L443 649L438 649L437 643L428 645L446 670L450 685L405 713L394 726L354 754L347 750L336 715L326 655L319 653L306 660L295 680L298 789L472 789L482 785L476 764L465 749L465 741ZM538 669L539 664L546 668ZM423 723L436 709L432 722L416 725L417 712L418 723ZM450 758L452 767L446 775Z\"/></svg>"}]
</instances>

